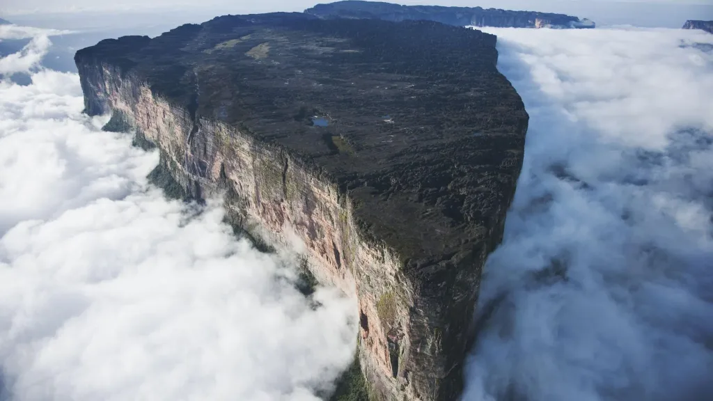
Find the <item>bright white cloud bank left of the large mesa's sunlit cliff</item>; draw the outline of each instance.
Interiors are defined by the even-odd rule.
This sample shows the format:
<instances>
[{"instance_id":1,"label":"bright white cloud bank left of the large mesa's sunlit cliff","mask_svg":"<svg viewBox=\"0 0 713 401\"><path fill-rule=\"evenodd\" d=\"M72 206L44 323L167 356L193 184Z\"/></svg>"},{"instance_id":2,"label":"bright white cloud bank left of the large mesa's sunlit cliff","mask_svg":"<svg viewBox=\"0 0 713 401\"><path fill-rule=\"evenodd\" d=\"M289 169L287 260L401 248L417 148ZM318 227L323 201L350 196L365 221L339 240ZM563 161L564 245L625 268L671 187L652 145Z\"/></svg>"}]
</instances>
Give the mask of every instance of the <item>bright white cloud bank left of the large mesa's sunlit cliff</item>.
<instances>
[{"instance_id":1,"label":"bright white cloud bank left of the large mesa's sunlit cliff","mask_svg":"<svg viewBox=\"0 0 713 401\"><path fill-rule=\"evenodd\" d=\"M0 400L328 392L354 356L354 300L305 298L293 260L235 238L219 200L166 200L146 178L158 153L83 115L76 74L41 68L53 31L0 39L22 32L0 59Z\"/></svg>"}]
</instances>

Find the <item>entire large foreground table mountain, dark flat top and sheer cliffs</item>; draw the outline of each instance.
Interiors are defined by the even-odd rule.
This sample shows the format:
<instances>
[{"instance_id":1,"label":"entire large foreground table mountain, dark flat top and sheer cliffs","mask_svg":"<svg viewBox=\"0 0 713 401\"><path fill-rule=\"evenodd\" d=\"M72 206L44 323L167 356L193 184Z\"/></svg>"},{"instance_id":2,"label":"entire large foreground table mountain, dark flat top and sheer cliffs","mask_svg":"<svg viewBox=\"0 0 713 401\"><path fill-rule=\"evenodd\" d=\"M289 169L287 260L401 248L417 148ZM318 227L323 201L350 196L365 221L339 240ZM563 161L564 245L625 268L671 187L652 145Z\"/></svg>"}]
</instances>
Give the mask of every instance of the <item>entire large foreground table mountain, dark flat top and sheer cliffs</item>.
<instances>
[{"instance_id":1,"label":"entire large foreground table mountain, dark flat top and sheer cliffs","mask_svg":"<svg viewBox=\"0 0 713 401\"><path fill-rule=\"evenodd\" d=\"M158 146L177 195L359 300L374 400L455 400L528 115L496 37L431 21L222 16L75 56L86 113Z\"/></svg>"}]
</instances>

